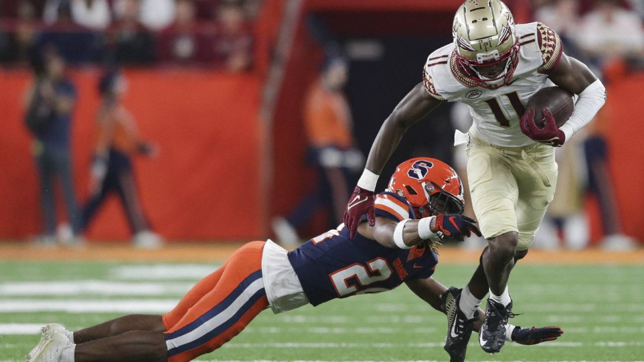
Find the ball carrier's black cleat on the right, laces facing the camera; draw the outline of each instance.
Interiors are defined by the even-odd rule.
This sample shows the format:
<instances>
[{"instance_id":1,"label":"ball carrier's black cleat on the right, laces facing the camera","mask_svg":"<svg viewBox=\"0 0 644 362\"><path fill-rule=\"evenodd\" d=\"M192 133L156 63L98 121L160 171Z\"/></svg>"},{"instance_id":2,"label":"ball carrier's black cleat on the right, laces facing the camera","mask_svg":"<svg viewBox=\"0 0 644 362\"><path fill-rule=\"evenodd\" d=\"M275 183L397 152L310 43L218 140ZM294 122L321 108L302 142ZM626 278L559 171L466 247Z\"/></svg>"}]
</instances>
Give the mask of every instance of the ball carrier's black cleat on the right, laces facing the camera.
<instances>
[{"instance_id":1,"label":"ball carrier's black cleat on the right, laces facing the camera","mask_svg":"<svg viewBox=\"0 0 644 362\"><path fill-rule=\"evenodd\" d=\"M497 353L506 343L506 326L509 318L514 317L512 312L512 301L504 307L488 299L486 315L478 332L478 343L488 353Z\"/></svg>"}]
</instances>

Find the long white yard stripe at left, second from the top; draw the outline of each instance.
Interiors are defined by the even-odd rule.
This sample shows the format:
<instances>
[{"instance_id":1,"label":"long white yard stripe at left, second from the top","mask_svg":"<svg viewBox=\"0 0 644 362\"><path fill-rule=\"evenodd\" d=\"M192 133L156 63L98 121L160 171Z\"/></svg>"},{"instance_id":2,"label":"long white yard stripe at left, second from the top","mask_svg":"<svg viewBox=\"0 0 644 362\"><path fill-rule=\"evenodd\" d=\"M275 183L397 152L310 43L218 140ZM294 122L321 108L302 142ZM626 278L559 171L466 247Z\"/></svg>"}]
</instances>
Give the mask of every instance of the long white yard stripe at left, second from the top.
<instances>
[{"instance_id":1,"label":"long white yard stripe at left, second from the top","mask_svg":"<svg viewBox=\"0 0 644 362\"><path fill-rule=\"evenodd\" d=\"M0 283L0 296L167 296L183 295L193 283L133 283L104 280L15 281Z\"/></svg>"}]
</instances>

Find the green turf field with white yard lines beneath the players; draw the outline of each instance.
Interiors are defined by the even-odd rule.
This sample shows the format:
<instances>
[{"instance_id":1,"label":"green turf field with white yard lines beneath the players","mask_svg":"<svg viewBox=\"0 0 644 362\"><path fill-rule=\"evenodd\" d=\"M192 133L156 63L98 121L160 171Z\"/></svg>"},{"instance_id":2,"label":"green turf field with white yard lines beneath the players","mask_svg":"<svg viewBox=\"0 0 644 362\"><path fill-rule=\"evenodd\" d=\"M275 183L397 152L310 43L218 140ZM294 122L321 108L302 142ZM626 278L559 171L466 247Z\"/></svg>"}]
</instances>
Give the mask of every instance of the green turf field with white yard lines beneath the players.
<instances>
[{"instance_id":1,"label":"green turf field with white yard lines beneath the players","mask_svg":"<svg viewBox=\"0 0 644 362\"><path fill-rule=\"evenodd\" d=\"M205 264L0 262L0 362L22 361L39 325L79 329L133 312L160 314ZM439 265L435 277L462 285L471 265ZM644 360L644 266L519 265L510 292L515 325L558 325L562 338L488 355L472 339L471 361ZM41 282L41 283L35 283ZM260 314L200 360L444 361L446 319L401 286L319 307Z\"/></svg>"}]
</instances>

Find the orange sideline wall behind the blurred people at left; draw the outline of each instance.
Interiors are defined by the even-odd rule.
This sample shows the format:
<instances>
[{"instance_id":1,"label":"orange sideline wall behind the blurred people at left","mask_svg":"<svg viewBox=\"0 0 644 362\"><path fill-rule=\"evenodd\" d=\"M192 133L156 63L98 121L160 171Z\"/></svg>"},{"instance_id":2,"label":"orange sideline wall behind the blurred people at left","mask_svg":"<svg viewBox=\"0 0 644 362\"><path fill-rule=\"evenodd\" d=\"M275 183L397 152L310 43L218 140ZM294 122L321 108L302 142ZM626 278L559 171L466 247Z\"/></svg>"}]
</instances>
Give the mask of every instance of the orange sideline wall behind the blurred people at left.
<instances>
[{"instance_id":1,"label":"orange sideline wall behind the blurred people at left","mask_svg":"<svg viewBox=\"0 0 644 362\"><path fill-rule=\"evenodd\" d=\"M73 172L82 204L88 190L99 72L71 73L79 94L73 117ZM261 80L189 70L128 70L124 100L142 136L160 147L135 171L151 224L168 239L249 239L261 234L258 205ZM0 238L40 233L37 169L23 124L27 71L0 71ZM59 198L62 204L62 198ZM63 207L59 218L64 215ZM114 198L97 214L89 238L128 238Z\"/></svg>"}]
</instances>

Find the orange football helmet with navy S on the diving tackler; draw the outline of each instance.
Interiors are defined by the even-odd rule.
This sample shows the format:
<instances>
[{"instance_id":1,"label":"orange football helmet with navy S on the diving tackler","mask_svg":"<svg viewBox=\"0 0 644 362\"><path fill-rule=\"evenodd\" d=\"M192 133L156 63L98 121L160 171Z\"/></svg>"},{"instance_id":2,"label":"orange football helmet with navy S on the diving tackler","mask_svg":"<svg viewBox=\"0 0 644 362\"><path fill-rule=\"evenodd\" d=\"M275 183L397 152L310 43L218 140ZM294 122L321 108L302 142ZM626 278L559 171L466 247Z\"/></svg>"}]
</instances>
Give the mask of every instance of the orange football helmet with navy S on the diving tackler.
<instances>
[{"instance_id":1,"label":"orange football helmet with navy S on the diving tackler","mask_svg":"<svg viewBox=\"0 0 644 362\"><path fill-rule=\"evenodd\" d=\"M417 157L399 164L387 190L406 198L417 218L462 214L465 207L459 175L436 158Z\"/></svg>"}]
</instances>

